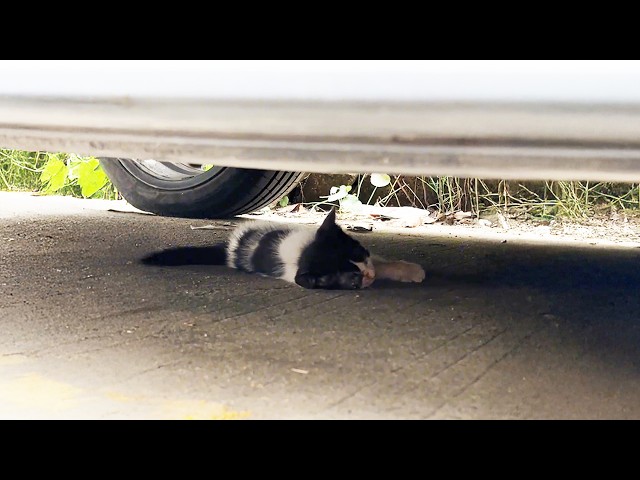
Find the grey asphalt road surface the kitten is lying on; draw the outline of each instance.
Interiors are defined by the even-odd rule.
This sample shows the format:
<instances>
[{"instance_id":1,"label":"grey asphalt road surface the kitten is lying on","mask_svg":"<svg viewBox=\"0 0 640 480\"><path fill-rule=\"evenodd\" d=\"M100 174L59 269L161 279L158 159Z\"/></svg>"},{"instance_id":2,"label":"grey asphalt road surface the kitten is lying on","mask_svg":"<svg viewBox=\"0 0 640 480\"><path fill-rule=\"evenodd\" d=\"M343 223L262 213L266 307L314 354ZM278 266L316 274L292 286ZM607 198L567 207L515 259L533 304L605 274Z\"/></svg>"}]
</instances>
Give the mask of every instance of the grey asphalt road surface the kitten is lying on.
<instances>
[{"instance_id":1,"label":"grey asphalt road surface the kitten is lying on","mask_svg":"<svg viewBox=\"0 0 640 480\"><path fill-rule=\"evenodd\" d=\"M426 281L307 291L87 205L0 194L0 418L640 418L638 248L359 234Z\"/></svg>"}]
</instances>

